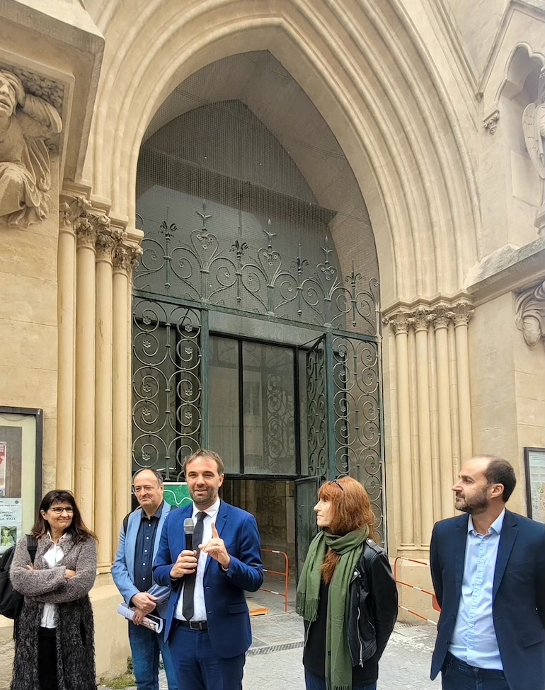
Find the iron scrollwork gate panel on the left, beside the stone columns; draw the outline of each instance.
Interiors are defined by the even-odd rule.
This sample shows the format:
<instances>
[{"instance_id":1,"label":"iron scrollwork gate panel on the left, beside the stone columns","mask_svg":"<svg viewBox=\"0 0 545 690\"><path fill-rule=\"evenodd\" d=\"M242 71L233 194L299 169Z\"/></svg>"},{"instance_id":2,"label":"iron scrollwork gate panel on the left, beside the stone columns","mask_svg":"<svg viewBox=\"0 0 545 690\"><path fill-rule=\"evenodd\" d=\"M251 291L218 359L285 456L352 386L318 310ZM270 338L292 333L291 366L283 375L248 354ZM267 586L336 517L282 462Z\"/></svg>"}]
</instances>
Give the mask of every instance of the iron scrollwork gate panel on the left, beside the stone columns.
<instances>
[{"instance_id":1,"label":"iron scrollwork gate panel on the left, beside the stone columns","mask_svg":"<svg viewBox=\"0 0 545 690\"><path fill-rule=\"evenodd\" d=\"M180 476L200 447L200 311L134 299L132 323L132 465Z\"/></svg>"}]
</instances>

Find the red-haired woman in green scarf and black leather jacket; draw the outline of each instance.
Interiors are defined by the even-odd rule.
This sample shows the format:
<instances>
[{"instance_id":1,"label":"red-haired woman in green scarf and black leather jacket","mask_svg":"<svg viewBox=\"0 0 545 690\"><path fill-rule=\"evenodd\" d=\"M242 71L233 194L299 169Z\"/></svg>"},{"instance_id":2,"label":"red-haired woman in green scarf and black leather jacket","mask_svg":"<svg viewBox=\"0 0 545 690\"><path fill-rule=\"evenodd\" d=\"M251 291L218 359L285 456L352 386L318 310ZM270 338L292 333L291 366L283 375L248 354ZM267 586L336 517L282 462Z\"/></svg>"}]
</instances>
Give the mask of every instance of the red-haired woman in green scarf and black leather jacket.
<instances>
[{"instance_id":1,"label":"red-haired woman in green scarf and black leather jacket","mask_svg":"<svg viewBox=\"0 0 545 690\"><path fill-rule=\"evenodd\" d=\"M307 690L376 690L379 659L397 616L386 551L374 543L369 496L351 477L321 485L319 532L297 585Z\"/></svg>"}]
</instances>

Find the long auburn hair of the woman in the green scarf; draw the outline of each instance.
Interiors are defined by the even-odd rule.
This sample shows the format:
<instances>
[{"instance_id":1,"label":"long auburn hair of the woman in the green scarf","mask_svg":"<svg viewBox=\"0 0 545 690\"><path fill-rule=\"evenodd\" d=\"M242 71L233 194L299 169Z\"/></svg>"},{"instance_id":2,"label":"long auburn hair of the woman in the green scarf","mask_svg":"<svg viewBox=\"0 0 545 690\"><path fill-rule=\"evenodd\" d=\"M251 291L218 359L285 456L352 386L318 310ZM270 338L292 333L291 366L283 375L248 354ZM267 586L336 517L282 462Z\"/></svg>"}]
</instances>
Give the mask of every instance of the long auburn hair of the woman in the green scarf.
<instances>
[{"instance_id":1,"label":"long auburn hair of the woman in the green scarf","mask_svg":"<svg viewBox=\"0 0 545 690\"><path fill-rule=\"evenodd\" d=\"M342 488L341 488L342 487ZM352 477L341 477L326 481L318 490L318 498L331 504L331 522L328 532L344 536L356 529L369 529L369 536L375 539L375 517L367 491ZM320 566L323 581L331 582L340 556L329 548Z\"/></svg>"}]
</instances>

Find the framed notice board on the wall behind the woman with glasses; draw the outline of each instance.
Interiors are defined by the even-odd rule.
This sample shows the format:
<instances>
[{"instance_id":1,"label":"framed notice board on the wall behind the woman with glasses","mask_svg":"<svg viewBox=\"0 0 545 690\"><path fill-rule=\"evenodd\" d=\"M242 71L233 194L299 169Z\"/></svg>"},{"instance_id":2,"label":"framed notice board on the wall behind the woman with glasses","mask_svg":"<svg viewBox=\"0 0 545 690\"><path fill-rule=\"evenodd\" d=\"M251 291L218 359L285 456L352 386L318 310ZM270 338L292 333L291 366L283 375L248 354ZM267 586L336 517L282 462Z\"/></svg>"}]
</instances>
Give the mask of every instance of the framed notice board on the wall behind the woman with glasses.
<instances>
[{"instance_id":1,"label":"framed notice board on the wall behind the woman with glasses","mask_svg":"<svg viewBox=\"0 0 545 690\"><path fill-rule=\"evenodd\" d=\"M42 410L0 407L0 553L34 524L42 498Z\"/></svg>"}]
</instances>

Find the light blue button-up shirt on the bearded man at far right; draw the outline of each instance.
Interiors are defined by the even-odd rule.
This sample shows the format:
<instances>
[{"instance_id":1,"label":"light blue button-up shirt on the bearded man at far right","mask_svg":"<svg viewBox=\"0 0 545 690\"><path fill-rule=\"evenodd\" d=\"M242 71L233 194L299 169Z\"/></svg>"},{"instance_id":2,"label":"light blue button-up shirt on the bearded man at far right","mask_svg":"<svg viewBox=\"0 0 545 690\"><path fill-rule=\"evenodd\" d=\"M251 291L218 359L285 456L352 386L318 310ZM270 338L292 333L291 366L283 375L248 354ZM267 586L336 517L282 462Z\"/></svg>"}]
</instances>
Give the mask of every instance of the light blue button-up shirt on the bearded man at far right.
<instances>
[{"instance_id":1,"label":"light blue button-up shirt on the bearded man at far right","mask_svg":"<svg viewBox=\"0 0 545 690\"><path fill-rule=\"evenodd\" d=\"M475 531L471 515L467 524L464 579L449 652L481 669L503 670L492 604L495 562L504 517L505 509L490 525L488 534Z\"/></svg>"}]
</instances>

